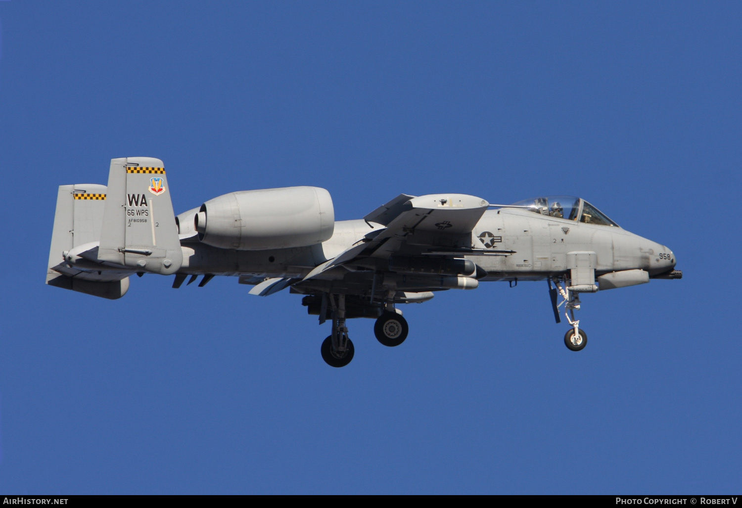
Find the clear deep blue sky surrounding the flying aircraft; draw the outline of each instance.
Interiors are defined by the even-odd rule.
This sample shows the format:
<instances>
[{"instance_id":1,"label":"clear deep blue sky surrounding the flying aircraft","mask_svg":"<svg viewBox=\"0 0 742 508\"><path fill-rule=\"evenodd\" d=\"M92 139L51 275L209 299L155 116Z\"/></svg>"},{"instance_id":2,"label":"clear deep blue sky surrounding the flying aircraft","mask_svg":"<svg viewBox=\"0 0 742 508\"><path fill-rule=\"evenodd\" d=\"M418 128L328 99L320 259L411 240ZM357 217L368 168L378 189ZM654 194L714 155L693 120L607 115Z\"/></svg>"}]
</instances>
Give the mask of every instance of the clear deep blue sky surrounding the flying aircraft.
<instances>
[{"instance_id":1,"label":"clear deep blue sky surrounding the flying aircraft","mask_svg":"<svg viewBox=\"0 0 742 508\"><path fill-rule=\"evenodd\" d=\"M742 484L738 2L0 3L0 492L727 493ZM574 194L683 280L406 306L328 326L234 278L44 285L56 188L165 161L177 213L327 188Z\"/></svg>"}]
</instances>

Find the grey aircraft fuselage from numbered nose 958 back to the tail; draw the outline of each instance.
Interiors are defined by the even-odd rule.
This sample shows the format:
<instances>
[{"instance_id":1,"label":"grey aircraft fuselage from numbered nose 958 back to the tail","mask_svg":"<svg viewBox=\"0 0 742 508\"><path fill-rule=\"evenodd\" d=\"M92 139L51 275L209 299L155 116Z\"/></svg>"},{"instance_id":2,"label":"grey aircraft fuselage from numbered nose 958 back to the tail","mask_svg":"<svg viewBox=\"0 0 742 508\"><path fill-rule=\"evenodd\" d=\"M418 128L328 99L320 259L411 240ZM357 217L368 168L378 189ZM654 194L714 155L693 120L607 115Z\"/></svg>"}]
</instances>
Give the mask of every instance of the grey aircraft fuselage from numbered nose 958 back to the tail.
<instances>
[{"instance_id":1,"label":"grey aircraft fuselage from numbered nose 958 back to the tail","mask_svg":"<svg viewBox=\"0 0 742 508\"><path fill-rule=\"evenodd\" d=\"M197 239L183 240L181 273L246 277L304 277L312 268L357 244L372 227L364 220L335 222L329 240L319 245L261 251L214 248ZM466 255L483 268L482 281L542 280L568 271L567 253L593 251L596 274L642 269L650 276L672 270L676 260L664 245L623 228L592 225L534 214L519 208L486 211L471 234L470 246L508 254ZM383 270L383 267L381 267Z\"/></svg>"}]
</instances>

